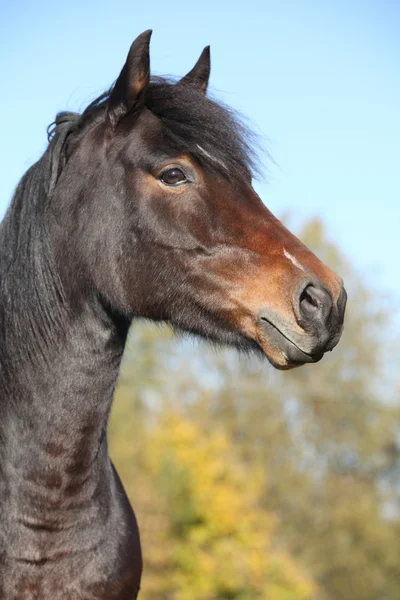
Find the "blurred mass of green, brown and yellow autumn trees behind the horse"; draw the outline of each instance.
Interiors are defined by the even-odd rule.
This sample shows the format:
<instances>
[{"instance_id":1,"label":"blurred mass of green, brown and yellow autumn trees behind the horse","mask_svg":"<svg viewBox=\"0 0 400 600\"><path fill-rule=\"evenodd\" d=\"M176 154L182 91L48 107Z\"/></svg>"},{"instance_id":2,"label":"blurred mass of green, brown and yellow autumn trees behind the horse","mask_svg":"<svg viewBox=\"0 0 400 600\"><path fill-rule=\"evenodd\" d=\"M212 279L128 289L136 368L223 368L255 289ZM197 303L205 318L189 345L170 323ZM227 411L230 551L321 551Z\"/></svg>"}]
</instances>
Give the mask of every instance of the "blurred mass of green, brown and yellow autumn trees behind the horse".
<instances>
[{"instance_id":1,"label":"blurred mass of green, brown and yellow autumn trees behind the horse","mask_svg":"<svg viewBox=\"0 0 400 600\"><path fill-rule=\"evenodd\" d=\"M300 237L349 292L343 340L318 365L282 374L231 350L177 342L165 329L133 329L111 446L144 532L144 598L310 597L302 573L316 581L313 600L400 597L400 411L388 396L387 304L352 271L319 220ZM221 456L225 475L214 477ZM222 490L224 506L253 515L245 542L239 531L220 532L219 541L210 535L225 514L206 509ZM266 528L264 546L256 523ZM226 535L228 563L244 563L234 568L232 589L216 567ZM246 563L252 548L259 579ZM289 574L288 596L279 595L282 585L267 596L262 588L275 560L277 573ZM203 596L194 596L193 586Z\"/></svg>"}]
</instances>

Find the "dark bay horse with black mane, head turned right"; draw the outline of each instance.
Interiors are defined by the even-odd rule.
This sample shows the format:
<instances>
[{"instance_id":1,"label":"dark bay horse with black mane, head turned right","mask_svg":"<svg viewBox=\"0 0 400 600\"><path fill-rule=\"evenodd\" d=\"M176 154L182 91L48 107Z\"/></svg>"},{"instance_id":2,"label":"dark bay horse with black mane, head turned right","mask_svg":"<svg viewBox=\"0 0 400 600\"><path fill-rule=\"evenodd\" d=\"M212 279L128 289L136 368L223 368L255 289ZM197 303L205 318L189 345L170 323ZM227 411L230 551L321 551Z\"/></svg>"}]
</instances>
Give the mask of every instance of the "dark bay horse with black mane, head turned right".
<instances>
[{"instance_id":1,"label":"dark bay horse with black mane, head turned right","mask_svg":"<svg viewBox=\"0 0 400 600\"><path fill-rule=\"evenodd\" d=\"M137 598L138 526L107 449L134 319L278 369L343 329L342 280L263 204L251 135L207 95L209 47L182 79L150 77L150 36L108 92L57 115L0 225L3 600Z\"/></svg>"}]
</instances>

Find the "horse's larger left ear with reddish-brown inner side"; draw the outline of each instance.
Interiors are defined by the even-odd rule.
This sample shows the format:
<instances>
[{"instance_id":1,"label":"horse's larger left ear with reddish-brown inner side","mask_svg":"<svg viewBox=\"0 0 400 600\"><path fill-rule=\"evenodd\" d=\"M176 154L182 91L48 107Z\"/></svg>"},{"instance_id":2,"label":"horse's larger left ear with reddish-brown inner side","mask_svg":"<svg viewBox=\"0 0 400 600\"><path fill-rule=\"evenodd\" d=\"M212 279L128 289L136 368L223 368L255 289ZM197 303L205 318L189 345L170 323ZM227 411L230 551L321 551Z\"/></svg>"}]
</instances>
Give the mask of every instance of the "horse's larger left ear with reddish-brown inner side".
<instances>
[{"instance_id":1,"label":"horse's larger left ear with reddish-brown inner side","mask_svg":"<svg viewBox=\"0 0 400 600\"><path fill-rule=\"evenodd\" d=\"M107 114L113 127L133 109L141 109L150 80L149 29L133 42L126 63L108 100Z\"/></svg>"}]
</instances>

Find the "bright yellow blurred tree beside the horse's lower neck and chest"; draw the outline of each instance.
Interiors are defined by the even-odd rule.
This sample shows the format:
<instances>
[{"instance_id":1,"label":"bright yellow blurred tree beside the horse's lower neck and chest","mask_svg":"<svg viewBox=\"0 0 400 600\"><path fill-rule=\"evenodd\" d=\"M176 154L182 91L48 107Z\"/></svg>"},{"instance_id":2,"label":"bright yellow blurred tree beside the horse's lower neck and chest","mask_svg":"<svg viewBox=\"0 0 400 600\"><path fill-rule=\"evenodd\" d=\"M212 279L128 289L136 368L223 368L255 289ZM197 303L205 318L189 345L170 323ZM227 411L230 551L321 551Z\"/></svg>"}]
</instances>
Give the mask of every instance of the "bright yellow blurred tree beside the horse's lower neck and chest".
<instances>
[{"instance_id":1,"label":"bright yellow blurred tree beside the horse's lower neck and chest","mask_svg":"<svg viewBox=\"0 0 400 600\"><path fill-rule=\"evenodd\" d=\"M117 414L114 423L115 458L123 464L130 449L135 460L128 491L142 521L144 600L311 600L310 579L271 547L263 473L238 459L221 429L167 410L138 444L121 437Z\"/></svg>"}]
</instances>

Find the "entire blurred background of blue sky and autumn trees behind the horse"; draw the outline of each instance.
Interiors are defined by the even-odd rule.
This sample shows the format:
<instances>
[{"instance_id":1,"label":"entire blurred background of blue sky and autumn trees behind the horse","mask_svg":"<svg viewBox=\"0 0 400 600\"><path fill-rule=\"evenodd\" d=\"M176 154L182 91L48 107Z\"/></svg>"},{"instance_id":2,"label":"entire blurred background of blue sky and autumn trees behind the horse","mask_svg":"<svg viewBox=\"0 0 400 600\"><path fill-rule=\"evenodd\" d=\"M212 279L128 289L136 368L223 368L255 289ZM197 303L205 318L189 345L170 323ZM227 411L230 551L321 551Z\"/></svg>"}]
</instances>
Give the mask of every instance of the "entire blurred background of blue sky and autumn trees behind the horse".
<instances>
[{"instance_id":1,"label":"entire blurred background of blue sky and autumn trees behind the horse","mask_svg":"<svg viewBox=\"0 0 400 600\"><path fill-rule=\"evenodd\" d=\"M400 5L0 2L0 216L59 110L154 30L153 74L211 44L211 94L271 155L266 205L339 273L338 348L287 373L135 323L110 422L143 600L400 598Z\"/></svg>"}]
</instances>

